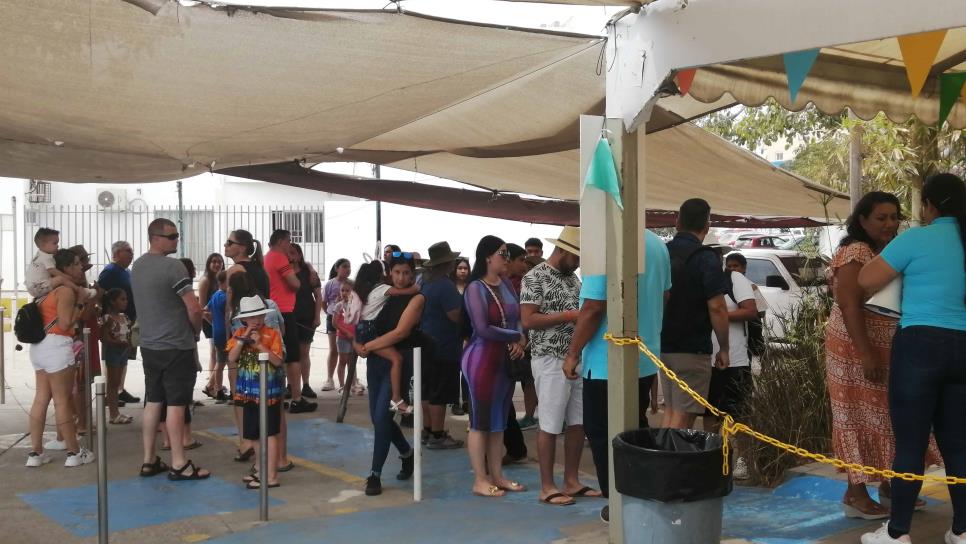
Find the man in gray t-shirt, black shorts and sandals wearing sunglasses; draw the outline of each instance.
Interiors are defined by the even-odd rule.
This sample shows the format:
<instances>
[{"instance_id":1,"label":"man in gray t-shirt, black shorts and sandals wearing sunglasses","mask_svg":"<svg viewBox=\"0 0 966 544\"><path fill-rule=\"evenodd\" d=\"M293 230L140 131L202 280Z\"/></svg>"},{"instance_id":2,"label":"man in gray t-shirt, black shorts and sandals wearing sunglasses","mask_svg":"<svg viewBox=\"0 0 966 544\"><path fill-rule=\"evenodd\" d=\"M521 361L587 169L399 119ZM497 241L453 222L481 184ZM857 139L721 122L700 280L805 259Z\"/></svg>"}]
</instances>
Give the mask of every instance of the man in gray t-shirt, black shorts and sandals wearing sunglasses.
<instances>
[{"instance_id":1,"label":"man in gray t-shirt, black shorts and sandals wearing sunglasses","mask_svg":"<svg viewBox=\"0 0 966 544\"><path fill-rule=\"evenodd\" d=\"M178 249L178 229L167 219L148 225L148 252L134 262L131 289L139 309L141 356L144 360L144 461L141 476L168 472L169 480L197 480L211 474L185 459L184 416L195 386L195 338L201 330L201 304L181 261L169 258ZM161 407L171 444L171 466L155 456L155 432Z\"/></svg>"}]
</instances>

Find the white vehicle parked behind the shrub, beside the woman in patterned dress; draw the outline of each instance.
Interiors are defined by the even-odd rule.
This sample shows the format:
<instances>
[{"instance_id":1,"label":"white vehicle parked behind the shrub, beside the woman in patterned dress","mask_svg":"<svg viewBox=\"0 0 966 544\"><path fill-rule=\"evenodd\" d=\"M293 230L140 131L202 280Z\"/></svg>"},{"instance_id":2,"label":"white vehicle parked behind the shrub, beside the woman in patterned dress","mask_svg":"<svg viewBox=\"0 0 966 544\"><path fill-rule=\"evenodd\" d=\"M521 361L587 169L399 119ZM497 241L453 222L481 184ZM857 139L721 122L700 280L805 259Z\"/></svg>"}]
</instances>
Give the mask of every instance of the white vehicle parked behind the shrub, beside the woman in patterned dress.
<instances>
[{"instance_id":1,"label":"white vehicle parked behind the shrub, beside the woman in patterned dress","mask_svg":"<svg viewBox=\"0 0 966 544\"><path fill-rule=\"evenodd\" d=\"M794 250L742 249L748 259L749 280L758 286L768 308L765 311L764 335L769 341L785 337L783 317L790 315L803 296L828 289L824 257L806 257Z\"/></svg>"}]
</instances>

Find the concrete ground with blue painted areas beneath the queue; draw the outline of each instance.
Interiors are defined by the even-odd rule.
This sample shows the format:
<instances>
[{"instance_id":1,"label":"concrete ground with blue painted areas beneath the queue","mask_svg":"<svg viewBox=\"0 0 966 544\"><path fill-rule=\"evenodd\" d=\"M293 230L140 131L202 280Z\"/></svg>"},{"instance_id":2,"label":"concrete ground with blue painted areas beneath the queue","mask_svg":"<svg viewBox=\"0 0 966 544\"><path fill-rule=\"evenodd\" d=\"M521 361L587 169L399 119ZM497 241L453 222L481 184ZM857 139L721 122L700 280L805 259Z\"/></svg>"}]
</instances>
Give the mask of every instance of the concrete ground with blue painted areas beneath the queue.
<instances>
[{"instance_id":1,"label":"concrete ground with blue painted areas beneath the queue","mask_svg":"<svg viewBox=\"0 0 966 544\"><path fill-rule=\"evenodd\" d=\"M321 339L321 338L320 338ZM96 463L64 468L63 454L39 469L23 466L29 451L27 411L33 399L33 371L25 351L15 352L6 338L6 404L0 405L0 544L95 542L97 534ZM204 343L204 342L202 342ZM202 353L207 346L201 346ZM326 351L313 349L312 384L318 390ZM360 365L360 368L364 368ZM138 362L129 367L128 390L143 393ZM363 372L364 376L364 372ZM169 482L163 475L140 478L139 406L122 412L131 425L109 425L108 480L111 540L146 543L265 542L282 538L301 542L587 542L607 541L598 512L604 502L582 499L576 506L551 507L537 500L536 431L525 431L530 460L507 469L528 491L502 499L470 494L472 475L464 449L424 452L424 501L412 500L412 482L397 482L399 461L391 453L383 476L384 493L362 493L371 457L368 399L354 397L346 422L335 423L335 392L320 393L317 412L289 416L289 449L296 468L281 475L271 490L271 522L259 523L258 493L245 490L247 464L235 463L232 410L200 392L195 409L195 437L203 447L188 452L214 476L202 482ZM522 396L517 395L522 414ZM53 421L53 410L48 423ZM460 439L466 418L448 417ZM48 426L48 431L53 431ZM407 434L411 430L407 429ZM52 432L50 433L52 434ZM558 447L558 457L562 453ZM162 458L167 455L162 452ZM558 465L558 471L560 469ZM596 485L590 452L585 448L582 479ZM880 522L847 520L839 501L844 481L834 469L805 465L777 489L736 486L725 500L723 542L792 544L858 542ZM942 486L927 485L930 505L916 515L916 542L941 542L951 509Z\"/></svg>"}]
</instances>

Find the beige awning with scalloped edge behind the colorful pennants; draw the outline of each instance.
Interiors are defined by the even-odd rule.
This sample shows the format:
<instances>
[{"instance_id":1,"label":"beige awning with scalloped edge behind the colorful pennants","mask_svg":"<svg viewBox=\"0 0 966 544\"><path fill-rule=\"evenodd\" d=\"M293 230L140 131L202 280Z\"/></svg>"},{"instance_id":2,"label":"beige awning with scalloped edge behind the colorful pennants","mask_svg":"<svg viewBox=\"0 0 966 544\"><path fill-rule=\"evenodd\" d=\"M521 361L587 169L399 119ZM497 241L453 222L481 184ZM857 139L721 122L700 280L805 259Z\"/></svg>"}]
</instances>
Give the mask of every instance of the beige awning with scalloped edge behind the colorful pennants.
<instances>
[{"instance_id":1,"label":"beige awning with scalloped edge behind the colorful pennants","mask_svg":"<svg viewBox=\"0 0 966 544\"><path fill-rule=\"evenodd\" d=\"M774 98L782 107L798 111L809 103L824 113L849 108L862 119L880 111L902 122L914 115L934 125L939 119L939 74L966 71L966 28L946 33L925 86L913 97L896 38L821 49L794 103L781 56L706 66L698 69L690 96L702 102L733 98L759 106ZM953 128L966 128L966 104L957 102L947 118Z\"/></svg>"}]
</instances>

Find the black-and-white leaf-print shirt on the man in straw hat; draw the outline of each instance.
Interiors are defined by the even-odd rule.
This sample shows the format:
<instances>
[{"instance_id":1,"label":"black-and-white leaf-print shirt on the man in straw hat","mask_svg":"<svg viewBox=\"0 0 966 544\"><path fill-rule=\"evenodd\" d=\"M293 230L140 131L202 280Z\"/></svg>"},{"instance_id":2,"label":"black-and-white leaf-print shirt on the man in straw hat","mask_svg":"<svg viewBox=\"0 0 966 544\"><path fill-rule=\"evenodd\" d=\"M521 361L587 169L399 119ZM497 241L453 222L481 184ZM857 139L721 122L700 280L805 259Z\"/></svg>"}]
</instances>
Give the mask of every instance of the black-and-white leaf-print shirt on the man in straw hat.
<instances>
[{"instance_id":1,"label":"black-and-white leaf-print shirt on the man in straw hat","mask_svg":"<svg viewBox=\"0 0 966 544\"><path fill-rule=\"evenodd\" d=\"M523 277L520 304L533 304L542 314L558 314L576 310L580 302L580 280L576 274L563 274L549 263L538 264ZM548 329L530 331L530 349L534 357L564 358L574 335L573 322L560 323Z\"/></svg>"}]
</instances>

